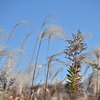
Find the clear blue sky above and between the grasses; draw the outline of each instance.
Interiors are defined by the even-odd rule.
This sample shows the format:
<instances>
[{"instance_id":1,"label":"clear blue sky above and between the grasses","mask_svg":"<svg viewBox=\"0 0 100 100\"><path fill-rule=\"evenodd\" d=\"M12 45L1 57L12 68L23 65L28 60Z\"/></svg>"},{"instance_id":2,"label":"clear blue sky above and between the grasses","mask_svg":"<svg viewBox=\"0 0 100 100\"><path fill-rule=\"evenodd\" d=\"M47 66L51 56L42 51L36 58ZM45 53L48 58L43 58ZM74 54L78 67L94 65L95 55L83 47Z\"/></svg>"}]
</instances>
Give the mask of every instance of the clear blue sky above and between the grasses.
<instances>
[{"instance_id":1,"label":"clear blue sky above and between the grasses","mask_svg":"<svg viewBox=\"0 0 100 100\"><path fill-rule=\"evenodd\" d=\"M44 19L51 13L57 13L53 19L61 25L66 33L92 33L86 42L88 49L100 45L100 0L0 0L0 27L8 34L14 25L20 21L28 21L31 25L20 25L16 28L9 46L19 48L22 39L32 30L39 30ZM26 51L31 54L36 36L29 37ZM53 40L49 55L65 48L63 42ZM46 42L41 47L40 62L46 54ZM66 71L63 73L66 75Z\"/></svg>"}]
</instances>

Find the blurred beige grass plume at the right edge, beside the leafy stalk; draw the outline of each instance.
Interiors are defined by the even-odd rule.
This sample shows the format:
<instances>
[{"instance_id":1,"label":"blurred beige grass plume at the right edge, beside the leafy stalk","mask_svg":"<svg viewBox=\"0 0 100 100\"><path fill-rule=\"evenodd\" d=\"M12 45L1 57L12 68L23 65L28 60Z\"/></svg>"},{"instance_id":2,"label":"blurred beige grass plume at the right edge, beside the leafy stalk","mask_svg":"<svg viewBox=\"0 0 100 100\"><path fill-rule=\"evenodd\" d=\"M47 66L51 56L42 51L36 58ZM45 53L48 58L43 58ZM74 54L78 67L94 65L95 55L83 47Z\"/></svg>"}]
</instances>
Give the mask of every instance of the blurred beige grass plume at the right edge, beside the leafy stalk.
<instances>
[{"instance_id":1,"label":"blurred beige grass plume at the right edge, beside the leafy stalk","mask_svg":"<svg viewBox=\"0 0 100 100\"><path fill-rule=\"evenodd\" d=\"M89 54L90 53L90 54ZM85 60L90 67L92 67L93 72L88 76L87 80L84 80L83 85L88 93L93 93L98 98L99 86L100 86L100 46L93 47L92 51L87 53L88 57ZM90 89L92 91L90 92Z\"/></svg>"}]
</instances>

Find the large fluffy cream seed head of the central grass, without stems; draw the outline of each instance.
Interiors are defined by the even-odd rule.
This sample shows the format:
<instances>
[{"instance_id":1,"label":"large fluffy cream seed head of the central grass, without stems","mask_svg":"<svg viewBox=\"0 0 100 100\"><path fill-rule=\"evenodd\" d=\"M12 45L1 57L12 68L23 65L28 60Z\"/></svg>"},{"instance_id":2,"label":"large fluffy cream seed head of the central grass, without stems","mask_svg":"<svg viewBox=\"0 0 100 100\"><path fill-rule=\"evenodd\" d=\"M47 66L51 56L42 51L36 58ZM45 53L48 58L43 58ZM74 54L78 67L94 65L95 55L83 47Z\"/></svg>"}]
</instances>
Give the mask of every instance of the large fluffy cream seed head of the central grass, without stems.
<instances>
[{"instance_id":1,"label":"large fluffy cream seed head of the central grass, without stems","mask_svg":"<svg viewBox=\"0 0 100 100\"><path fill-rule=\"evenodd\" d=\"M64 40L66 38L66 32L58 25L49 25L41 34L41 39L48 37L49 41L57 38Z\"/></svg>"}]
</instances>

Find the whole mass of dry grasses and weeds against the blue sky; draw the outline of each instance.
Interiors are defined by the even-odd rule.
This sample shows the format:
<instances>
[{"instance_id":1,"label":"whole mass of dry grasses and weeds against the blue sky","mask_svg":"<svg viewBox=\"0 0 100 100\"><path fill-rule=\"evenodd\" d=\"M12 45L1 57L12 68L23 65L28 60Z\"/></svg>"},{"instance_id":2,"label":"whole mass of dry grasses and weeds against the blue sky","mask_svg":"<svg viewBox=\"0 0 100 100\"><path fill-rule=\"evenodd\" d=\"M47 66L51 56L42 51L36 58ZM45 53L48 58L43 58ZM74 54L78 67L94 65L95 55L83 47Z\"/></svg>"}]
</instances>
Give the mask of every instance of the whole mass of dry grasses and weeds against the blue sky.
<instances>
[{"instance_id":1,"label":"whole mass of dry grasses and weeds against the blue sky","mask_svg":"<svg viewBox=\"0 0 100 100\"><path fill-rule=\"evenodd\" d=\"M67 39L66 32L61 26L49 25L45 28L46 24L55 22L50 19L50 16L52 14L44 20L38 33L31 59L29 62L27 61L28 64L24 67L21 67L20 63L26 57L26 55L23 55L25 43L33 31L26 35L21 48L10 49L8 43L14 34L14 30L20 24L29 23L20 22L16 24L9 35L4 34L3 30L0 29L0 100L99 100L100 47L93 49L92 53L87 53L84 35L80 30L78 30L77 34L72 33L72 39ZM2 40L5 37L8 39L6 44L2 45ZM38 65L40 48L46 39L48 40L46 63ZM67 46L61 52L48 56L49 45L52 39L66 42ZM37 53L35 53L36 50ZM59 59L61 55L66 57L66 61ZM58 66L59 69L56 71L52 71L54 63L60 64ZM92 67L93 72L89 75L88 80L82 82L85 74L82 75L81 73L83 64ZM41 72L41 66L45 67L44 83L41 84L41 81L43 81L41 79L40 82L35 84ZM67 77L51 84L63 67L67 69ZM66 82L65 86L63 82ZM90 91L91 89L92 91Z\"/></svg>"}]
</instances>

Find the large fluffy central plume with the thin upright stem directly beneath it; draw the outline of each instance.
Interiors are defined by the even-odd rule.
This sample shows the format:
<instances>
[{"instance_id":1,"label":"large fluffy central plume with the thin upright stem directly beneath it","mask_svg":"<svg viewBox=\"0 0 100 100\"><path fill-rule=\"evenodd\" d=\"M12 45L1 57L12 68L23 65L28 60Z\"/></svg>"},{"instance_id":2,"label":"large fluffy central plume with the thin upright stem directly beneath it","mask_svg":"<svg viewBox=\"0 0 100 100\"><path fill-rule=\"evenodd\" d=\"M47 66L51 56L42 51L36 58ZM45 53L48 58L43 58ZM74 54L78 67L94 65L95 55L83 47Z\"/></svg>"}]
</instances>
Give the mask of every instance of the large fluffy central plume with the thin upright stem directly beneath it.
<instances>
[{"instance_id":1,"label":"large fluffy central plume with the thin upright stem directly beneath it","mask_svg":"<svg viewBox=\"0 0 100 100\"><path fill-rule=\"evenodd\" d=\"M53 38L64 40L64 38L66 36L65 34L66 33L62 30L62 27L57 26L57 25L50 25L44 30L44 32L42 34L42 38L44 38L46 36L48 36L48 38L49 38L48 39L48 47L47 47L47 56L48 56L48 52L49 52L50 41ZM50 67L48 65L48 59L46 59L46 61L47 61L47 70L46 70L45 90L46 90L46 87L47 87L48 75L49 75L49 70L50 70ZM45 91L45 95L46 95L46 91ZM45 100L45 95L44 95L44 100Z\"/></svg>"}]
</instances>

